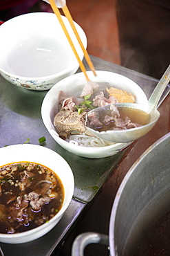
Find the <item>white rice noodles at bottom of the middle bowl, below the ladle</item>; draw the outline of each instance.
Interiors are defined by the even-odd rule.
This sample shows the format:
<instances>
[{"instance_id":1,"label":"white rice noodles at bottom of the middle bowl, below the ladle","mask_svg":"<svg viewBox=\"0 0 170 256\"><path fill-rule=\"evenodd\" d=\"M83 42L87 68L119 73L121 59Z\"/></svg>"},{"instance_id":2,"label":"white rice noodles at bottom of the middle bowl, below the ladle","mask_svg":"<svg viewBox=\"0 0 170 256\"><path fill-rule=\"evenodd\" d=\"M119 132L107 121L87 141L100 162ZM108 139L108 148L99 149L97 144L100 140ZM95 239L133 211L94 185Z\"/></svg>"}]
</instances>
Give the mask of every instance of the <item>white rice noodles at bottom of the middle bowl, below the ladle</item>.
<instances>
[{"instance_id":1,"label":"white rice noodles at bottom of the middle bowl, below the ladle","mask_svg":"<svg viewBox=\"0 0 170 256\"><path fill-rule=\"evenodd\" d=\"M70 135L66 140L68 143L81 147L107 147L115 143L109 143L101 138L87 136L85 134Z\"/></svg>"}]
</instances>

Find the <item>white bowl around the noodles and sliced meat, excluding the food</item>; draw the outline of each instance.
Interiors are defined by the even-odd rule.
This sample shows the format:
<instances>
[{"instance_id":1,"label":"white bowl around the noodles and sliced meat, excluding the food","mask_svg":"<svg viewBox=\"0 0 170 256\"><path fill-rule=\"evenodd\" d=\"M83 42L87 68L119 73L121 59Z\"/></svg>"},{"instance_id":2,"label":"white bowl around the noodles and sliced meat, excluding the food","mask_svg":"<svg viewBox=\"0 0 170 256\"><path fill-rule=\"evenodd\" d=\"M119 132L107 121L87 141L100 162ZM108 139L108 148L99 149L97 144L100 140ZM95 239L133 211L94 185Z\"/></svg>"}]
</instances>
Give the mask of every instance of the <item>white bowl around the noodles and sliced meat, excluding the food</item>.
<instances>
[{"instance_id":1,"label":"white bowl around the noodles and sliced meat, excluding the food","mask_svg":"<svg viewBox=\"0 0 170 256\"><path fill-rule=\"evenodd\" d=\"M110 85L135 95L136 103L147 104L147 96L145 93L138 84L129 78L107 71L96 71L96 73L97 76L94 77L92 71L88 71L87 74L89 79L94 82L109 82ZM107 147L81 147L78 145L72 145L62 138L59 138L59 134L57 134L54 128L53 120L54 116L58 112L57 102L59 91L64 91L69 96L73 96L75 94L80 95L85 82L84 74L76 73L75 75L71 75L70 77L61 80L59 83L55 84L52 89L50 89L47 95L45 95L41 109L44 125L54 140L56 140L61 147L78 156L84 156L87 158L103 158L117 154L131 143L116 143Z\"/></svg>"}]
</instances>

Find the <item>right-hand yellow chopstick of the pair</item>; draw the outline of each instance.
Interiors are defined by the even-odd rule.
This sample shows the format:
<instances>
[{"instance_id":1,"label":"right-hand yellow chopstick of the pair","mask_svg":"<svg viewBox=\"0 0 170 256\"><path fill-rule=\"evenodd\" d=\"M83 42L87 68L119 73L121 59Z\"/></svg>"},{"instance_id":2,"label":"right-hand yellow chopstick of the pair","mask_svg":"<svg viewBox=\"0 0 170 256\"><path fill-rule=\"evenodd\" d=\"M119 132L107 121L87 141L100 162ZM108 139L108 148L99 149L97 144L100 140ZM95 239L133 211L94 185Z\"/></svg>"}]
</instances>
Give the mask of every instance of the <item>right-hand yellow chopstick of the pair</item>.
<instances>
[{"instance_id":1,"label":"right-hand yellow chopstick of the pair","mask_svg":"<svg viewBox=\"0 0 170 256\"><path fill-rule=\"evenodd\" d=\"M82 49L82 51L85 55L85 60L87 61L87 64L89 65L89 68L92 70L92 72L96 76L96 71L95 71L94 65L92 64L92 61L90 60L89 54L87 53L87 51L85 49L85 46L83 46L83 43L81 41L81 37L78 35L78 32L76 30L76 26L74 25L74 21L72 19L72 15L70 14L70 11L68 10L66 5L62 8L62 10L65 14L65 17L67 17L68 21L70 22L70 25L72 26L72 30L74 31L74 34L76 35L76 39L78 40L78 43L81 46L81 49Z\"/></svg>"}]
</instances>

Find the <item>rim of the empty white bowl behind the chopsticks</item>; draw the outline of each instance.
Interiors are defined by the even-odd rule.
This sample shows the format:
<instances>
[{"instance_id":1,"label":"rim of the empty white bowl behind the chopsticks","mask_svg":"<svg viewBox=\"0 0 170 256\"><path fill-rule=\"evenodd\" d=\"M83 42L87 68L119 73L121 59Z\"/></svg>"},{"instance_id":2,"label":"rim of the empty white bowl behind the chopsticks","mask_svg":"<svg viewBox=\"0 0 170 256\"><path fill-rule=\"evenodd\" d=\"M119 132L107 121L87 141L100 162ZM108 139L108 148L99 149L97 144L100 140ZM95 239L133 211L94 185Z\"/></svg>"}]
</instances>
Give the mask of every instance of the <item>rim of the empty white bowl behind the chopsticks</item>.
<instances>
[{"instance_id":1,"label":"rim of the empty white bowl behind the chopsticks","mask_svg":"<svg viewBox=\"0 0 170 256\"><path fill-rule=\"evenodd\" d=\"M17 20L17 19L22 19L22 17L25 17L25 16L32 16L32 15L50 15L50 16L53 16L55 17L55 14L53 12L29 12L29 13L25 13L23 15L19 15L17 17L13 17L12 19L9 19L8 21L5 21L1 26L0 26L0 33L1 33L1 29L5 28L5 26L8 26L8 24L10 24L10 22L14 21L14 20ZM69 23L67 17L61 15L63 21L65 23ZM38 18L37 18L38 19ZM85 31L83 30L83 28L78 24L76 23L76 21L74 21L74 25L76 26L76 29L80 30L84 39L85 39L85 42L83 42L85 48L87 47L87 36L85 34ZM83 56L82 56L82 60L83 60ZM15 74L12 74L8 71L5 71L4 68L1 68L0 66L0 73L3 73L3 75L6 75L6 76L9 76L9 77L14 77L14 78L18 78L19 80L52 80L54 78L57 78L57 77L60 77L62 75L65 75L67 73L70 73L70 71L72 71L73 69L78 69L78 61L74 60L74 68L73 68L73 65L70 66L70 67L67 67L65 68L63 71L60 71L59 73L54 73L52 75L45 75L45 76L38 76L38 77L30 77L30 76L23 76L23 75L15 75Z\"/></svg>"}]
</instances>

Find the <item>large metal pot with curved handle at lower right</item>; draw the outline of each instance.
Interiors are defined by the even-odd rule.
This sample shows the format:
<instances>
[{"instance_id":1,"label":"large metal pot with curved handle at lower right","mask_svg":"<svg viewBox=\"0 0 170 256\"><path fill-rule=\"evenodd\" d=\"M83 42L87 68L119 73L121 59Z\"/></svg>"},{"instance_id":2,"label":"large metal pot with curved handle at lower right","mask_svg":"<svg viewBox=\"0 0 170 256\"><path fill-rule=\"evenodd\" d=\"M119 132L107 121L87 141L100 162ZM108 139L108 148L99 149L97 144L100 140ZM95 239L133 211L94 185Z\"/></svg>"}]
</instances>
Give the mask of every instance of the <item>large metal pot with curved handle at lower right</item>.
<instances>
[{"instance_id":1,"label":"large metal pot with curved handle at lower right","mask_svg":"<svg viewBox=\"0 0 170 256\"><path fill-rule=\"evenodd\" d=\"M145 151L127 172L118 189L105 235L84 233L72 255L83 255L87 244L109 244L111 256L132 256L149 228L170 210L170 133Z\"/></svg>"}]
</instances>

